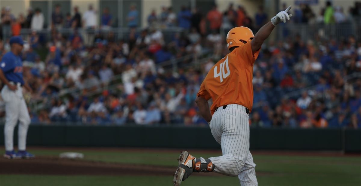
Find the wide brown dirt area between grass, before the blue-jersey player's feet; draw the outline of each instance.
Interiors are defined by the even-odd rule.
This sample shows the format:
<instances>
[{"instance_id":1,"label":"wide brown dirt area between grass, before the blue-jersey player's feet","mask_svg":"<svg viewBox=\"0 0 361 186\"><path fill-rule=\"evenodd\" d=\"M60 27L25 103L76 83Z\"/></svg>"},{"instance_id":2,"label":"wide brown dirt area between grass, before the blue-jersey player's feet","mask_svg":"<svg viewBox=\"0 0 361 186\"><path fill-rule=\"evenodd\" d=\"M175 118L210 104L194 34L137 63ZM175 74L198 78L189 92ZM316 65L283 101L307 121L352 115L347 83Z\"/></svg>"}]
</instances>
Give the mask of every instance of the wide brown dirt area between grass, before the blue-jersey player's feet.
<instances>
[{"instance_id":1,"label":"wide brown dirt area between grass, before the blue-jersey player's feet","mask_svg":"<svg viewBox=\"0 0 361 186\"><path fill-rule=\"evenodd\" d=\"M172 176L176 167L104 163L40 156L35 159L0 158L0 174ZM200 176L222 176L216 173Z\"/></svg>"}]
</instances>

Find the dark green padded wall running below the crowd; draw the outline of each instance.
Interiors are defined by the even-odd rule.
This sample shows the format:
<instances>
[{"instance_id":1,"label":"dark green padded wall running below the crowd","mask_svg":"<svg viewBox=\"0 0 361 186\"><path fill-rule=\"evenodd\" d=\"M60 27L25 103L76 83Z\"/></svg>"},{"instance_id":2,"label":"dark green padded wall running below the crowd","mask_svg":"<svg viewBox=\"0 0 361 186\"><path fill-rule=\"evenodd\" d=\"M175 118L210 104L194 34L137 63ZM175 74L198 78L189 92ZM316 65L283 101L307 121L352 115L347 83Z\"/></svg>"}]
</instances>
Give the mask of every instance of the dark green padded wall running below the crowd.
<instances>
[{"instance_id":1,"label":"dark green padded wall running below the crowd","mask_svg":"<svg viewBox=\"0 0 361 186\"><path fill-rule=\"evenodd\" d=\"M1 125L3 128L3 125ZM17 128L14 132L17 141ZM0 133L4 145L4 133ZM29 146L219 149L208 127L31 125ZM361 152L361 129L251 128L251 150Z\"/></svg>"}]
</instances>

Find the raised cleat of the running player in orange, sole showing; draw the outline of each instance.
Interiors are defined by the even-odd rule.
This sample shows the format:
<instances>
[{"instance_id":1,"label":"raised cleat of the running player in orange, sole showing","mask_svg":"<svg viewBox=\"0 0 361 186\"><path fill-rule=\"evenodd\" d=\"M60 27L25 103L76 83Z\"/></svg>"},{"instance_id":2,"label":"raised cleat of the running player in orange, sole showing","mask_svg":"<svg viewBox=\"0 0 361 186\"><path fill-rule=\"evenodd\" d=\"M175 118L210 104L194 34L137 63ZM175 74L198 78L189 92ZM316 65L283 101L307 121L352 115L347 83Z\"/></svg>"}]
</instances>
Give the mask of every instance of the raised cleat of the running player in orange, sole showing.
<instances>
[{"instance_id":1,"label":"raised cleat of the running player in orange, sole showing","mask_svg":"<svg viewBox=\"0 0 361 186\"><path fill-rule=\"evenodd\" d=\"M195 157L190 155L187 151L181 152L178 159L178 168L174 173L173 185L179 186L181 182L186 180L192 173L195 163Z\"/></svg>"}]
</instances>

